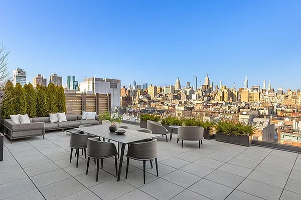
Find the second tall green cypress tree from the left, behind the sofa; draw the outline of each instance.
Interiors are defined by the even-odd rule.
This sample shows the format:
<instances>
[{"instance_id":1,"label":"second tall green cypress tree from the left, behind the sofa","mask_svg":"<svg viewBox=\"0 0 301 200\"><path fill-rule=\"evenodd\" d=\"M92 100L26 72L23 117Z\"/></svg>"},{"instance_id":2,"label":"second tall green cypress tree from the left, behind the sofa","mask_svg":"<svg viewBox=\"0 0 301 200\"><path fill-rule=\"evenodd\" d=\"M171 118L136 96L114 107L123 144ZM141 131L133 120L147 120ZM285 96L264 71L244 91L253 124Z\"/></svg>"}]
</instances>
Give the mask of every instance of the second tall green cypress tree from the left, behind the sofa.
<instances>
[{"instance_id":1,"label":"second tall green cypress tree from the left, behind the sofa","mask_svg":"<svg viewBox=\"0 0 301 200\"><path fill-rule=\"evenodd\" d=\"M25 89L18 82L13 89L13 106L15 108L15 113L26 114L27 102L25 96Z\"/></svg>"}]
</instances>

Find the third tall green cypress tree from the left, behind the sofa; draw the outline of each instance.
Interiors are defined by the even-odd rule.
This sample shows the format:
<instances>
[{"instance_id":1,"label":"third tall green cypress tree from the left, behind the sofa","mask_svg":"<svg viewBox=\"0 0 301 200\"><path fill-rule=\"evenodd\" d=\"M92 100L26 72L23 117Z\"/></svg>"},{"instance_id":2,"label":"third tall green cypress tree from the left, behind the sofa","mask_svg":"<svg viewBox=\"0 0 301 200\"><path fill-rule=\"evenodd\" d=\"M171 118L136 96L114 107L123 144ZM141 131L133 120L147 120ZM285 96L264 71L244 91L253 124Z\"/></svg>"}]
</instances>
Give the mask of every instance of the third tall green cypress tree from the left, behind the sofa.
<instances>
[{"instance_id":1,"label":"third tall green cypress tree from the left, behind the sofa","mask_svg":"<svg viewBox=\"0 0 301 200\"><path fill-rule=\"evenodd\" d=\"M32 85L32 83L25 84L24 89L27 102L26 113L29 115L29 117L36 117L37 96L34 86Z\"/></svg>"}]
</instances>

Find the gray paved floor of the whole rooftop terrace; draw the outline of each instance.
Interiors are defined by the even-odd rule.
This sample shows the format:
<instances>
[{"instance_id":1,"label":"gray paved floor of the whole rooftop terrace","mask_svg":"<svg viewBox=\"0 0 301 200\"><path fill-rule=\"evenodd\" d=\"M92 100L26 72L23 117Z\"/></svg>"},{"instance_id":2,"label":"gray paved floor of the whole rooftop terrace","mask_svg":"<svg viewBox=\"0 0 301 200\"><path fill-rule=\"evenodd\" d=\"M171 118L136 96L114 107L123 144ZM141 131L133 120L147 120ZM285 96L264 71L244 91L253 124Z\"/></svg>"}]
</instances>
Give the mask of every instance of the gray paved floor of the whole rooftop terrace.
<instances>
[{"instance_id":1,"label":"gray paved floor of the whole rooftop terrace","mask_svg":"<svg viewBox=\"0 0 301 200\"><path fill-rule=\"evenodd\" d=\"M176 135L157 139L159 177L148 162L143 184L142 161L130 160L127 179L124 164L117 182L113 158L104 159L96 182L93 161L88 175L83 155L78 168L76 159L69 163L65 132L13 143L5 137L0 199L301 199L300 153L214 139L204 139L200 149L197 141L185 141L182 148Z\"/></svg>"}]
</instances>

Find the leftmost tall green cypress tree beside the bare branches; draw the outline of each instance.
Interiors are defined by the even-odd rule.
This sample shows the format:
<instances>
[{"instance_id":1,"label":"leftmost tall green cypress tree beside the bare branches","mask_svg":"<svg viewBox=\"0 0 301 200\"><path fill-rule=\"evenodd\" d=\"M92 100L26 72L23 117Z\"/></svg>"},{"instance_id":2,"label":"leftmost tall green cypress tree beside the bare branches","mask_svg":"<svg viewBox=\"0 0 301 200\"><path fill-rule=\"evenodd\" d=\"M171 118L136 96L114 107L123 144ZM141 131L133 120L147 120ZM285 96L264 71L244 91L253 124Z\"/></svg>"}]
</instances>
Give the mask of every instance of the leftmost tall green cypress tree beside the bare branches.
<instances>
[{"instance_id":1,"label":"leftmost tall green cypress tree beside the bare branches","mask_svg":"<svg viewBox=\"0 0 301 200\"><path fill-rule=\"evenodd\" d=\"M13 83L8 80L4 87L4 93L2 98L2 106L1 106L1 117L2 118L10 118L10 114L16 114L14 105L13 105Z\"/></svg>"}]
</instances>

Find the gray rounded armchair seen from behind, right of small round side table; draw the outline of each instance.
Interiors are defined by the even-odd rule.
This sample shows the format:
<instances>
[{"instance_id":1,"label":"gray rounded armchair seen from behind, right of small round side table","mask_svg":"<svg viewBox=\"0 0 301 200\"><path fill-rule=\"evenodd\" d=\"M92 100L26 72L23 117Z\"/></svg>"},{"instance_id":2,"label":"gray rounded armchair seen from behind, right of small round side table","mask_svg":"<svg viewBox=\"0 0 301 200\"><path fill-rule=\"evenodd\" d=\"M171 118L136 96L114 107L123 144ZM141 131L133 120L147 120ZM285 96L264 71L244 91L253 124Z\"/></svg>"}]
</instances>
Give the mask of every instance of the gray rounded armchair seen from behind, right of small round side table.
<instances>
[{"instance_id":1,"label":"gray rounded armchair seen from behind, right of small round side table","mask_svg":"<svg viewBox=\"0 0 301 200\"><path fill-rule=\"evenodd\" d=\"M183 140L192 140L199 141L199 148L201 148L201 143L203 144L204 139L204 128L200 126L182 126L178 128L178 139L182 139L182 147Z\"/></svg>"}]
</instances>

